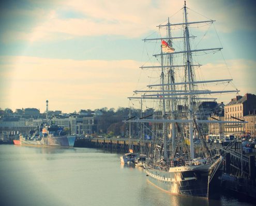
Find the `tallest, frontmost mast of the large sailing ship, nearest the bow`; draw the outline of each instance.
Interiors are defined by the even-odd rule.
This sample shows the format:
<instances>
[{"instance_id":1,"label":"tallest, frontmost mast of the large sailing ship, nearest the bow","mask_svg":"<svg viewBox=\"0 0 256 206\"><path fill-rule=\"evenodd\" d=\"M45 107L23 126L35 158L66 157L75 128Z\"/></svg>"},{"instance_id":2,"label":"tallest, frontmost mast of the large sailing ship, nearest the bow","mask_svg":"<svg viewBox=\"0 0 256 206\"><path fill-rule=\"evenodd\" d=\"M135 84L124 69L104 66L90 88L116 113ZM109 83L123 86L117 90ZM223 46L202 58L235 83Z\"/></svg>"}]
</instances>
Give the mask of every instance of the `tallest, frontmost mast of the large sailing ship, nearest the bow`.
<instances>
[{"instance_id":1,"label":"tallest, frontmost mast of the large sailing ship, nearest the bow","mask_svg":"<svg viewBox=\"0 0 256 206\"><path fill-rule=\"evenodd\" d=\"M187 7L186 1L184 6L184 15L185 15L185 42L186 42L186 49L187 53L187 73L188 73L188 82L191 82L191 74L190 74L190 45L189 45L189 31L188 31L188 19L187 19ZM192 120L193 113L192 113L192 99L191 99L191 84L188 84L188 118ZM193 125L192 122L189 123L189 142L190 142L190 157L194 158L194 142L193 142Z\"/></svg>"}]
</instances>

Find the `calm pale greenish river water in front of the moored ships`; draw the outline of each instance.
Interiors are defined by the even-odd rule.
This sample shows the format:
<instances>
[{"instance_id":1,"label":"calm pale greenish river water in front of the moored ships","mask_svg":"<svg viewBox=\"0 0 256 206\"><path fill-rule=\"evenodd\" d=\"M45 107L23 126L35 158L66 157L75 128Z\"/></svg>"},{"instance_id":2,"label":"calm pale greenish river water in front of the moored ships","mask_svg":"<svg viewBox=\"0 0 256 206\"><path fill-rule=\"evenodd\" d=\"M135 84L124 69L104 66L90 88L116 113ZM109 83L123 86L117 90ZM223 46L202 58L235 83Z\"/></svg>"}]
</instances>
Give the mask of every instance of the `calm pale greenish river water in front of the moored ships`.
<instances>
[{"instance_id":1,"label":"calm pale greenish river water in front of the moored ships","mask_svg":"<svg viewBox=\"0 0 256 206\"><path fill-rule=\"evenodd\" d=\"M203 200L164 193L142 168L88 148L0 145L0 205L254 205L233 196Z\"/></svg>"}]
</instances>

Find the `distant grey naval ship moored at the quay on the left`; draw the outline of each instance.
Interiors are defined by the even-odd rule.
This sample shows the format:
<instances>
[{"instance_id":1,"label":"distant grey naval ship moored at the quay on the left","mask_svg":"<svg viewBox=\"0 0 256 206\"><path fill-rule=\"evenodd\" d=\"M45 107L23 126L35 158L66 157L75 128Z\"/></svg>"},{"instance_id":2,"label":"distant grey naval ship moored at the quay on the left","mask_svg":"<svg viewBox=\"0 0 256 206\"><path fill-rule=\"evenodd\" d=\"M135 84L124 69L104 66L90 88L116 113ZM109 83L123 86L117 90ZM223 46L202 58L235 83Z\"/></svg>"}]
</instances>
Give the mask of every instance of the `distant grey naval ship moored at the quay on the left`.
<instances>
[{"instance_id":1,"label":"distant grey naval ship moored at the quay on the left","mask_svg":"<svg viewBox=\"0 0 256 206\"><path fill-rule=\"evenodd\" d=\"M30 131L28 135L20 134L19 140L13 140L15 145L30 146L64 146L73 147L75 135L65 135L63 128L56 125L43 127L40 131Z\"/></svg>"}]
</instances>

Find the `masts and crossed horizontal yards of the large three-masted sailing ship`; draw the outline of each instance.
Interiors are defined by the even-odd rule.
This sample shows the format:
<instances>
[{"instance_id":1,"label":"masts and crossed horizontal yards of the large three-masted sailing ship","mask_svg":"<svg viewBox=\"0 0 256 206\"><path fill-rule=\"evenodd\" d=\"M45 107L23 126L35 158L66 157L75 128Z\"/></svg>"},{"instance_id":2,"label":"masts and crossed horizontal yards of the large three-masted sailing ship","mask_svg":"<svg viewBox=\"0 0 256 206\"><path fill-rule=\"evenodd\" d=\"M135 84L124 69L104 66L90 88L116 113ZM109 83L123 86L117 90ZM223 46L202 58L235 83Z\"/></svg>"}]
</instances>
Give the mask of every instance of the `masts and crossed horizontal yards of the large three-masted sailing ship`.
<instances>
[{"instance_id":1,"label":"masts and crossed horizontal yards of the large three-masted sailing ship","mask_svg":"<svg viewBox=\"0 0 256 206\"><path fill-rule=\"evenodd\" d=\"M163 134L162 134L162 139L161 139L161 144L163 143L163 148L161 148L160 151L162 151L162 149L164 149L164 154L163 157L166 160L168 158L168 152L167 152L167 140L168 140L168 135L167 135L167 125L172 125L172 149L174 151L174 140L175 140L175 136L176 136L176 128L175 128L175 124L186 124L189 125L189 141L190 141L190 157L193 159L194 158L194 143L193 143L193 124L195 126L195 128L198 130L198 133L200 133L199 129L197 128L197 124L222 124L222 123L226 123L226 124L233 124L233 123L238 123L238 122L234 122L234 121L212 121L212 120L205 120L205 119L194 119L193 118L193 101L194 100L216 100L216 98L213 97L202 97L201 95L205 95L205 94L218 94L218 93L232 93L232 92L239 92L238 90L233 90L233 91L210 91L210 90L198 90L198 89L194 89L194 87L197 84L201 84L201 83L211 83L211 82L227 82L229 83L230 81L232 81L232 79L219 79L219 80L204 80L204 81L196 81L193 78L193 71L192 71L192 67L193 66L200 66L200 64L193 64L192 62L192 56L191 54L193 53L197 53L197 52L203 52L203 51L218 51L221 50L222 48L200 48L200 49L192 49L190 48L190 43L189 43L189 38L192 38L194 36L190 36L189 35L189 29L188 29L188 25L192 25L192 24L202 24L202 23L213 23L215 22L214 20L207 20L207 21L197 21L197 22L188 22L187 19L187 7L186 7L186 1L185 1L185 5L184 5L184 22L183 23L177 23L177 24L171 24L168 18L168 24L164 24L164 25L159 25L158 27L165 27L168 28L168 33L167 33L167 37L166 38L154 38L154 39L143 39L143 41L152 41L152 40L168 40L168 45L170 45L172 47L172 39L184 39L185 40L185 48L182 51L176 51L174 52L173 50L168 50L167 52L163 49L163 47L161 47L161 53L160 54L155 54L153 55L154 57L159 57L161 58L161 64L160 65L155 65L155 66L141 66L140 68L142 69L148 69L148 68L161 68L161 79L160 79L160 83L159 84L149 84L147 85L148 88L152 89L152 88L159 88L157 90L136 90L134 91L135 94L138 93L143 93L140 96L132 96L132 97L128 97L129 99L140 99L142 100L146 100L146 99L150 99L150 100L154 100L157 99L160 101L160 104L162 103L162 118L153 118L152 119L145 119L145 118L140 118L140 119L134 119L134 120L129 120L129 122L134 122L134 123L156 123L156 124L162 124L163 128ZM183 25L184 27L184 36L183 37L171 37L171 27L172 26L181 26ZM162 41L163 43L163 41ZM173 65L173 57L175 57L175 55L177 54L184 54L185 56L185 62L183 65L177 64L177 65ZM169 60L169 63L165 63L163 62L163 58L164 56L166 56ZM185 71L185 82L182 80L182 82L177 82L177 80L174 81L174 67L185 67L186 71ZM166 68L166 70L164 70ZM164 72L168 71L170 77L167 79L164 79ZM164 82L165 81L165 82ZM176 88L179 88L179 85L184 85L185 90L180 90ZM183 86L182 86L183 87ZM159 92L161 92L159 94ZM196 96L195 96L196 95ZM187 98L186 98L187 97ZM183 116L180 115L176 115L174 113L175 109L175 103L177 100L184 100L184 99L188 99L188 102L186 102L186 104L188 104L188 115L187 115L187 119L184 119ZM171 110L171 118L166 118L166 112L165 112L165 100L167 100L167 102L170 100L170 104L168 105L168 107L170 106L170 110ZM126 122L126 121L124 121ZM239 123L245 123L240 121ZM176 130L176 131L175 131ZM142 132L141 132L142 133ZM157 135L157 134L155 134ZM156 150L155 150L156 152ZM172 154L173 155L173 154ZM206 154L207 155L207 154Z\"/></svg>"}]
</instances>

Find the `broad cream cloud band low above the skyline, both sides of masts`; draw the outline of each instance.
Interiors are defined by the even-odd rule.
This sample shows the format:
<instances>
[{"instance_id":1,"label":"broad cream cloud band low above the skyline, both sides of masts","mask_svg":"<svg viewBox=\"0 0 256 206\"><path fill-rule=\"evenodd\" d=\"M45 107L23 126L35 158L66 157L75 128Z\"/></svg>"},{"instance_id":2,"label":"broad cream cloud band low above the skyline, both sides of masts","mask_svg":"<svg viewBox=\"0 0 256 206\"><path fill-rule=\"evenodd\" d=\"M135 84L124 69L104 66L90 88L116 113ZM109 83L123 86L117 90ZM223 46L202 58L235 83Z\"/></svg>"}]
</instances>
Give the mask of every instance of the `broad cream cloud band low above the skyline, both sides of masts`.
<instances>
[{"instance_id":1,"label":"broad cream cloud band low above the skyline, both sides of masts","mask_svg":"<svg viewBox=\"0 0 256 206\"><path fill-rule=\"evenodd\" d=\"M1 80L8 87L1 93L0 107L36 107L44 111L49 99L51 109L66 112L83 108L127 107L127 97L132 91L146 88L159 77L157 72L140 70L141 62L133 60L71 60L38 57L0 57ZM224 62L205 64L196 70L197 80L229 79L234 84L212 84L203 87L212 91L240 90L255 94L255 61L228 60L229 71ZM150 79L148 76L155 76ZM230 75L231 74L231 75ZM231 77L232 76L232 77ZM143 89L143 90L144 90ZM4 95L8 94L8 95ZM228 102L236 94L213 95L219 101Z\"/></svg>"}]
</instances>

